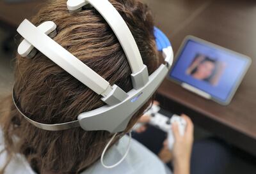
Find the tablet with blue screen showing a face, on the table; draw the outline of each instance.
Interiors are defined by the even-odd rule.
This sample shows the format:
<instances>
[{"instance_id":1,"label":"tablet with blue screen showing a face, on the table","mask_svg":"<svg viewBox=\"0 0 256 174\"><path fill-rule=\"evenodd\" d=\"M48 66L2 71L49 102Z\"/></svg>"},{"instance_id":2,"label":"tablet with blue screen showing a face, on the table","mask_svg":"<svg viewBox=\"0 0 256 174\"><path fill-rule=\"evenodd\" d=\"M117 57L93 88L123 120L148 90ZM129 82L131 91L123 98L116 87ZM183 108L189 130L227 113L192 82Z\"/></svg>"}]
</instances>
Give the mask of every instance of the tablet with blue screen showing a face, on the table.
<instances>
[{"instance_id":1,"label":"tablet with blue screen showing a face, on the table","mask_svg":"<svg viewBox=\"0 0 256 174\"><path fill-rule=\"evenodd\" d=\"M175 57L171 80L189 91L228 105L251 59L194 36L187 36Z\"/></svg>"}]
</instances>

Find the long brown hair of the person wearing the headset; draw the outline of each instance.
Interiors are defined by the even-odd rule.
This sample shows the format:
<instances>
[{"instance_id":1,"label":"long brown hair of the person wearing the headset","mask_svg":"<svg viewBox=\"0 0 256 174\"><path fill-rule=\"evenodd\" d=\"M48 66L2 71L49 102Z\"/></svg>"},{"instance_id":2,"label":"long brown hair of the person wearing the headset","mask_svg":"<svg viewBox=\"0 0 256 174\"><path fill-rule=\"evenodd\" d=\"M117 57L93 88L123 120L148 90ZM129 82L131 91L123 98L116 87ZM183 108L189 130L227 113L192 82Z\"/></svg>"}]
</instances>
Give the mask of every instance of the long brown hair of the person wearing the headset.
<instances>
[{"instance_id":1,"label":"long brown hair of the person wearing the headset","mask_svg":"<svg viewBox=\"0 0 256 174\"><path fill-rule=\"evenodd\" d=\"M122 15L133 34L149 73L157 68L154 25L148 7L135 0L109 0ZM53 39L100 76L124 91L132 89L131 69L115 34L104 18L92 7L69 13L67 0L49 1L31 22L39 25L52 20L57 25ZM17 55L15 63L15 98L29 118L45 124L69 122L82 112L103 106L95 94L73 76L38 52L33 59ZM127 133L143 110L132 117ZM44 131L26 121L13 106L1 114L4 143L9 156L24 154L37 173L79 173L99 159L113 134L84 131L81 127L66 131ZM116 138L116 141L118 138ZM13 138L15 138L15 141ZM3 172L3 171L2 171Z\"/></svg>"}]
</instances>

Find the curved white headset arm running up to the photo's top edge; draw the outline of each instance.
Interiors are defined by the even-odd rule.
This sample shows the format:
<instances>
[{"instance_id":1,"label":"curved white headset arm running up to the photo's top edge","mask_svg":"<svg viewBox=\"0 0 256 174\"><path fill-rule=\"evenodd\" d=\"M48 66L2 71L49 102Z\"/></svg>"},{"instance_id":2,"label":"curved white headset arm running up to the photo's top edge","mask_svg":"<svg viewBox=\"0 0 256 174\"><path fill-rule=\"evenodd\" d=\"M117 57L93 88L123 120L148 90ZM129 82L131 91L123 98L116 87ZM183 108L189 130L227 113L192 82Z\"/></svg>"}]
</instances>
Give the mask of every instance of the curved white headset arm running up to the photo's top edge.
<instances>
[{"instance_id":1,"label":"curved white headset arm running up to the photo's top edge","mask_svg":"<svg viewBox=\"0 0 256 174\"><path fill-rule=\"evenodd\" d=\"M111 29L118 38L118 41L122 45L125 55L129 61L132 73L135 74L141 71L141 69L144 68L143 61L132 33L124 19L108 0L68 0L67 7L70 11L78 10L88 3L99 11L100 15L102 15L102 17L104 17L104 19L110 25Z\"/></svg>"}]
</instances>

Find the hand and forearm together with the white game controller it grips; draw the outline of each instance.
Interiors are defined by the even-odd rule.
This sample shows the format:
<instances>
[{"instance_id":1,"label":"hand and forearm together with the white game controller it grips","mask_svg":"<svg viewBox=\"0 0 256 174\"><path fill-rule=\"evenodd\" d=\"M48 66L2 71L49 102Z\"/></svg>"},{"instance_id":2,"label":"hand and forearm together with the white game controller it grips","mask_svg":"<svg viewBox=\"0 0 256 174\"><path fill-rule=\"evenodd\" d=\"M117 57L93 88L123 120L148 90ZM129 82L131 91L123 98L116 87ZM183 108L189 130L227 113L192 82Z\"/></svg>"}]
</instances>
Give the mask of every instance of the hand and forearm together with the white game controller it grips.
<instances>
[{"instance_id":1,"label":"hand and forearm together with the white game controller it grips","mask_svg":"<svg viewBox=\"0 0 256 174\"><path fill-rule=\"evenodd\" d=\"M147 115L148 124L168 133L168 138L164 141L164 148L172 151L173 167L188 166L180 169L183 173L189 173L189 164L193 146L193 122L187 115L170 115L166 117L161 113L160 107L153 105L150 110L144 113ZM169 113L166 113L169 116ZM143 116L145 117L145 116ZM175 124L173 124L175 122ZM166 160L166 159L164 159Z\"/></svg>"}]
</instances>

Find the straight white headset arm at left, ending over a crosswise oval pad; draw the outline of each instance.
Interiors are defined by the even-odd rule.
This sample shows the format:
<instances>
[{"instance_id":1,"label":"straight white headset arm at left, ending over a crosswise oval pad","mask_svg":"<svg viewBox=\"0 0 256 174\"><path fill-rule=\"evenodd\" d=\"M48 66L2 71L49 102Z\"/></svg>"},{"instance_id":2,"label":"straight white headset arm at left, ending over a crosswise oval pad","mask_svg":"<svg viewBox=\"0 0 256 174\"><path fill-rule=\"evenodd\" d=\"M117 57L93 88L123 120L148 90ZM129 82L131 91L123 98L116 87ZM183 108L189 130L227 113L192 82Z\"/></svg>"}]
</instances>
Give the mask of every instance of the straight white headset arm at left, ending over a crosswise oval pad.
<instances>
[{"instance_id":1,"label":"straight white headset arm at left, ending over a crosswise oval pad","mask_svg":"<svg viewBox=\"0 0 256 174\"><path fill-rule=\"evenodd\" d=\"M70 73L70 75L84 83L92 91L102 96L106 96L104 95L106 91L108 91L107 94L111 91L108 81L65 50L65 48L61 47L56 41L49 38L49 36L36 28L27 19L19 25L17 31L28 43Z\"/></svg>"}]
</instances>

